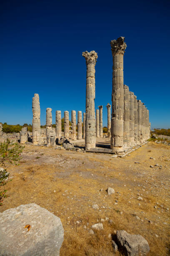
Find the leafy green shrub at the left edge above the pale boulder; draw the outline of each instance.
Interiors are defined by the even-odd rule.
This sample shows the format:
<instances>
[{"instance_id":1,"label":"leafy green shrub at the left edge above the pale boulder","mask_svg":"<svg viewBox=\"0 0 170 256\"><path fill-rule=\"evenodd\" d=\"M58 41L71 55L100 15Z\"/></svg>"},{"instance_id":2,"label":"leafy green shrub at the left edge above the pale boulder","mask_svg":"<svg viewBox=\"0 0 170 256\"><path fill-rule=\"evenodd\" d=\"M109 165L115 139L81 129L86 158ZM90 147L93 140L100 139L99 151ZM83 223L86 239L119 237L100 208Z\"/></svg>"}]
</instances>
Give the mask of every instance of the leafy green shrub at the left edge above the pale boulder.
<instances>
[{"instance_id":1,"label":"leafy green shrub at the left edge above the pale boulder","mask_svg":"<svg viewBox=\"0 0 170 256\"><path fill-rule=\"evenodd\" d=\"M2 169L0 169L0 186L5 186L7 184L7 179L10 175L7 172L6 164L10 163L17 165L23 148L24 146L21 146L18 143L10 142L8 138L3 143L0 143L0 165L2 166ZM0 206L3 205L3 199L9 197L6 192L6 189L0 191Z\"/></svg>"}]
</instances>

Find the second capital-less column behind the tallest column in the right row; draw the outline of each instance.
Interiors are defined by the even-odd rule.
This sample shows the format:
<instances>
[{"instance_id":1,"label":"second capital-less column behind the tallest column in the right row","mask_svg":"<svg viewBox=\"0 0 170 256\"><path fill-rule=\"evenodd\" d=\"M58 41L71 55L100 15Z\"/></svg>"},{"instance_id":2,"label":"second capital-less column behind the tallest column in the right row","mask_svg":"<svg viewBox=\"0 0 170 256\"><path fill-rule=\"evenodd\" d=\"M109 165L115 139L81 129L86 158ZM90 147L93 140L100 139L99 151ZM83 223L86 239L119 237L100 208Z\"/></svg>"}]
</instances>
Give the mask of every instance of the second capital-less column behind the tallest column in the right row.
<instances>
[{"instance_id":1,"label":"second capital-less column behind the tallest column in the right row","mask_svg":"<svg viewBox=\"0 0 170 256\"><path fill-rule=\"evenodd\" d=\"M135 141L134 141L134 93L129 92L129 106L130 106L130 115L129 115L129 120L130 120L130 146L134 146Z\"/></svg>"}]
</instances>

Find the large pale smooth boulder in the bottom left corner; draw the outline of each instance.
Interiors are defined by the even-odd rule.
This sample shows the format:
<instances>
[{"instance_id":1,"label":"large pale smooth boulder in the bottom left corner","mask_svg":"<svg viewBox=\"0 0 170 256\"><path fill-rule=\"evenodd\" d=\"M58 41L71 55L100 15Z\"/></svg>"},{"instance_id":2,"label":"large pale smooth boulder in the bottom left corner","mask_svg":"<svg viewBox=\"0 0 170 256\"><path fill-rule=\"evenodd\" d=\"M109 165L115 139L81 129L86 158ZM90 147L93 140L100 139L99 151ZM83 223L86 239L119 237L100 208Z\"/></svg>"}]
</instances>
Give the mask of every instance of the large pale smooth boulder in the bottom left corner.
<instances>
[{"instance_id":1,"label":"large pale smooth boulder in the bottom left corner","mask_svg":"<svg viewBox=\"0 0 170 256\"><path fill-rule=\"evenodd\" d=\"M0 213L0 256L59 256L63 238L60 218L39 205Z\"/></svg>"}]
</instances>

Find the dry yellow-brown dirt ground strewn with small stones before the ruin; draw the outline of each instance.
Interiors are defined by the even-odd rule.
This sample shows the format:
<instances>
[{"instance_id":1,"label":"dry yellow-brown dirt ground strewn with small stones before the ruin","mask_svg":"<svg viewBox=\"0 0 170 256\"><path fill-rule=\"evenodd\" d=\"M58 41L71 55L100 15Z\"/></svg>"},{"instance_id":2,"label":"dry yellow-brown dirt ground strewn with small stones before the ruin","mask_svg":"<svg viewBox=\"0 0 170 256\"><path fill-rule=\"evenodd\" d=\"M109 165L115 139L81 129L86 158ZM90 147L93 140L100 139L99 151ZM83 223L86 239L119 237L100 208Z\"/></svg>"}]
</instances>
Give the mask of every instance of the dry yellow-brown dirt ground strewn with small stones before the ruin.
<instances>
[{"instance_id":1,"label":"dry yellow-brown dirt ground strewn with small stones before the ruin","mask_svg":"<svg viewBox=\"0 0 170 256\"><path fill-rule=\"evenodd\" d=\"M61 256L113 255L109 234L114 239L114 230L142 235L148 255L170 255L170 146L149 142L125 158L112 158L27 145L20 165L7 171L10 197L0 212L36 203L60 217L65 230ZM107 195L108 187L115 194ZM105 220L104 230L90 234L101 218L112 223Z\"/></svg>"}]
</instances>

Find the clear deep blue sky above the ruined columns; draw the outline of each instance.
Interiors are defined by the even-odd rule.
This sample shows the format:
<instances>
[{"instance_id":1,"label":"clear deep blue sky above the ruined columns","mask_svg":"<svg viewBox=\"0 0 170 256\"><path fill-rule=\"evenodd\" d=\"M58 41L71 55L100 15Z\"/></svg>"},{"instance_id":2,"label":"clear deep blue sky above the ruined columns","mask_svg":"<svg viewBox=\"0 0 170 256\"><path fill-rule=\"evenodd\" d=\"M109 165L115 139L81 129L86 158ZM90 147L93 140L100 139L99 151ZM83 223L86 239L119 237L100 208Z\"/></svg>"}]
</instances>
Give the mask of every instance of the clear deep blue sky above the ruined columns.
<instances>
[{"instance_id":1,"label":"clear deep blue sky above the ruined columns","mask_svg":"<svg viewBox=\"0 0 170 256\"><path fill-rule=\"evenodd\" d=\"M0 1L0 122L32 123L32 97L46 108L85 112L86 64L96 51L95 107L111 103L110 41L125 36L124 84L170 128L170 1Z\"/></svg>"}]
</instances>

